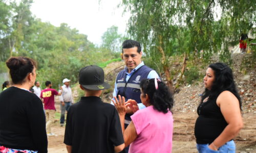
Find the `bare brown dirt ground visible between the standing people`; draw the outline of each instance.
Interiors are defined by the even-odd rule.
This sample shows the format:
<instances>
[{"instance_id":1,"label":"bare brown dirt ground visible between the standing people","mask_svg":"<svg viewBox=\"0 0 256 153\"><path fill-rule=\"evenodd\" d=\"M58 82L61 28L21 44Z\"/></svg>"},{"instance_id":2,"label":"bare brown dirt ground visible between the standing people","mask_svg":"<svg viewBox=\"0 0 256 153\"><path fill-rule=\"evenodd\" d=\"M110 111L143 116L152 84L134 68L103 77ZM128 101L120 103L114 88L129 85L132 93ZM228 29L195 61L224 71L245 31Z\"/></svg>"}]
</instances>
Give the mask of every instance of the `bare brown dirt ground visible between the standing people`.
<instances>
[{"instance_id":1,"label":"bare brown dirt ground visible between the standing people","mask_svg":"<svg viewBox=\"0 0 256 153\"><path fill-rule=\"evenodd\" d=\"M59 111L59 104L56 104ZM194 136L194 125L197 118L196 112L188 111L174 112L174 135L173 135L173 152L197 152L196 141ZM244 128L234 139L237 145L237 152L253 153L256 152L256 115L255 113L245 113ZM52 131L57 136L48 137L48 152L60 153L67 152L66 145L63 144L65 126L59 126L58 120L54 123Z\"/></svg>"}]
</instances>

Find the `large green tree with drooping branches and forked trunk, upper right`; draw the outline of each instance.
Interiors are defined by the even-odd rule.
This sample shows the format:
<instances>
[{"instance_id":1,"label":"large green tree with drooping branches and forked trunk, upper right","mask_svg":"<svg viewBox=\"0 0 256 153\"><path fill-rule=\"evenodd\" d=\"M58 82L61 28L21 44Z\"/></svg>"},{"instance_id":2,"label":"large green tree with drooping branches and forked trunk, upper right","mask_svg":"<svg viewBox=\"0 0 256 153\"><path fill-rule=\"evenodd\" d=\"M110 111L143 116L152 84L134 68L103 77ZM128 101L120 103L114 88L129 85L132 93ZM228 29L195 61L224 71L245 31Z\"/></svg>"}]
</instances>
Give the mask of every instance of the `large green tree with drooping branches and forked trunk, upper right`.
<instances>
[{"instance_id":1,"label":"large green tree with drooping branches and forked trunk, upper right","mask_svg":"<svg viewBox=\"0 0 256 153\"><path fill-rule=\"evenodd\" d=\"M143 44L147 58L161 61L170 88L171 56L183 54L181 79L187 57L199 56L195 50L204 50L205 56L210 57L226 48L223 45L237 41L241 29L254 30L255 25L256 4L252 1L123 0L122 5L131 12L130 37Z\"/></svg>"}]
</instances>

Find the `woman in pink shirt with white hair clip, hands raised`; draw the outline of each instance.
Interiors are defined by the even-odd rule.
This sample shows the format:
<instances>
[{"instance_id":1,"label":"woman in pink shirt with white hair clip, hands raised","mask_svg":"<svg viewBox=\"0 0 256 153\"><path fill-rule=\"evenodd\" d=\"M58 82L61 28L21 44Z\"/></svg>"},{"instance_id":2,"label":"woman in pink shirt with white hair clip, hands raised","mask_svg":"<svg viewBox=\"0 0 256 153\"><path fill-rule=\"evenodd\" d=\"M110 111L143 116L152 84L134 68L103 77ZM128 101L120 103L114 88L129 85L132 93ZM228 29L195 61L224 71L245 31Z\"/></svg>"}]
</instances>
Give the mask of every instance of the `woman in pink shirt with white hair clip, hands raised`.
<instances>
[{"instance_id":1,"label":"woman in pink shirt with white hair clip, hands raised","mask_svg":"<svg viewBox=\"0 0 256 153\"><path fill-rule=\"evenodd\" d=\"M140 99L145 109L138 110L135 100L125 102L118 95L113 101L122 126L125 147L130 145L129 152L172 152L173 115L170 112L174 100L168 87L158 79L143 80L140 83ZM132 122L124 130L126 107L135 113Z\"/></svg>"}]
</instances>

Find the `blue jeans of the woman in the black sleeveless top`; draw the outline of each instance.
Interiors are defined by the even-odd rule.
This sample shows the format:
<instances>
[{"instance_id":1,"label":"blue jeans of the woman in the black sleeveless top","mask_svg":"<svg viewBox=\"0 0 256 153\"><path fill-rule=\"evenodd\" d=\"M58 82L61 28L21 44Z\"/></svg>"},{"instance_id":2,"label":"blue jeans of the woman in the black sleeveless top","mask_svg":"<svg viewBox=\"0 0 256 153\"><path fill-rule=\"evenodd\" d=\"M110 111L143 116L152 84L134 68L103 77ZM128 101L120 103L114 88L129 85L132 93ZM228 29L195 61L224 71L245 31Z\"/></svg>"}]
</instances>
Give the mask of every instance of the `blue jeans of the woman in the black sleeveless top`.
<instances>
[{"instance_id":1,"label":"blue jeans of the woman in the black sleeveless top","mask_svg":"<svg viewBox=\"0 0 256 153\"><path fill-rule=\"evenodd\" d=\"M234 141L228 141L224 145L222 145L219 150L212 150L208 147L208 144L197 144L197 150L199 153L214 153L214 152L220 152L220 153L236 153L236 144L234 144Z\"/></svg>"}]
</instances>

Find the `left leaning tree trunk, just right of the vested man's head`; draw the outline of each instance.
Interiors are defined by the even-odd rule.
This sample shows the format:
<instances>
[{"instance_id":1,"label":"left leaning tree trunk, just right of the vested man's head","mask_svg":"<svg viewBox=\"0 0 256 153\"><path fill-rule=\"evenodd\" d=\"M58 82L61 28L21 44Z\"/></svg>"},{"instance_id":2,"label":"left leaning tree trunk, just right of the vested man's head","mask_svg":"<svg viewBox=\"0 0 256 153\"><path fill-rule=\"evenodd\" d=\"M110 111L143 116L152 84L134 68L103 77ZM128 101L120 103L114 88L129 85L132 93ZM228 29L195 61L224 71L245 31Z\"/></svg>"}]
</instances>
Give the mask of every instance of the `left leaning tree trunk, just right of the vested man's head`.
<instances>
[{"instance_id":1,"label":"left leaning tree trunk, just right of the vested man's head","mask_svg":"<svg viewBox=\"0 0 256 153\"><path fill-rule=\"evenodd\" d=\"M166 80L167 80L167 86L169 87L169 89L174 92L174 86L173 86L173 81L172 81L172 77L170 76L170 70L169 70L169 66L168 63L166 63L166 58L165 58L165 54L163 52L163 48L162 48L162 36L159 36L159 42L160 45L157 47L160 54L162 55L162 59L161 59L161 63L163 65L163 70L166 76Z\"/></svg>"}]
</instances>

